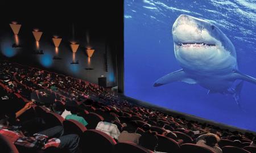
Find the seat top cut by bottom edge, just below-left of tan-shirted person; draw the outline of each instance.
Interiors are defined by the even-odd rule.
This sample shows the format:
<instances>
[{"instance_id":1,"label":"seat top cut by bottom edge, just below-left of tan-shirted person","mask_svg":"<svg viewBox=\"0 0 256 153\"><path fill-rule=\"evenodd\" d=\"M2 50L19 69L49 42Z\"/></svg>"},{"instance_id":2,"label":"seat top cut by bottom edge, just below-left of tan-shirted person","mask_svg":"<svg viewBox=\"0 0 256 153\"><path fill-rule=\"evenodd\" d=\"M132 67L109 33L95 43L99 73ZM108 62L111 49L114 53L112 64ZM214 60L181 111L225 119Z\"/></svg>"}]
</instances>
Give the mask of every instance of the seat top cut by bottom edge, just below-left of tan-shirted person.
<instances>
[{"instance_id":1,"label":"seat top cut by bottom edge, just below-left of tan-shirted person","mask_svg":"<svg viewBox=\"0 0 256 153\"><path fill-rule=\"evenodd\" d=\"M212 150L209 150L208 148L195 145L192 143L185 143L180 146L181 147L181 153L214 153Z\"/></svg>"}]
</instances>

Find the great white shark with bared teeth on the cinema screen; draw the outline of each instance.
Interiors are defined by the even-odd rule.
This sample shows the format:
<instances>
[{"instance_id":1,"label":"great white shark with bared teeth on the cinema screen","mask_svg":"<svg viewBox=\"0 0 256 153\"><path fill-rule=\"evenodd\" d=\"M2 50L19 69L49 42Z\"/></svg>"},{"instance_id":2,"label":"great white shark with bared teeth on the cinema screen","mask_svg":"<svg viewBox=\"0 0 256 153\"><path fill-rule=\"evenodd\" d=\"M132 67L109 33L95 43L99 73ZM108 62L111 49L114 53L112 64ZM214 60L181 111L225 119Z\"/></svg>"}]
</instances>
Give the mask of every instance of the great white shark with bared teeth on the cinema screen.
<instances>
[{"instance_id":1,"label":"great white shark with bared teeth on the cinema screen","mask_svg":"<svg viewBox=\"0 0 256 153\"><path fill-rule=\"evenodd\" d=\"M177 81L197 83L207 88L208 93L232 94L240 105L243 80L256 84L255 78L238 71L232 42L207 20L180 15L172 26L172 38L182 69L159 78L154 87ZM241 81L236 84L236 80Z\"/></svg>"}]
</instances>

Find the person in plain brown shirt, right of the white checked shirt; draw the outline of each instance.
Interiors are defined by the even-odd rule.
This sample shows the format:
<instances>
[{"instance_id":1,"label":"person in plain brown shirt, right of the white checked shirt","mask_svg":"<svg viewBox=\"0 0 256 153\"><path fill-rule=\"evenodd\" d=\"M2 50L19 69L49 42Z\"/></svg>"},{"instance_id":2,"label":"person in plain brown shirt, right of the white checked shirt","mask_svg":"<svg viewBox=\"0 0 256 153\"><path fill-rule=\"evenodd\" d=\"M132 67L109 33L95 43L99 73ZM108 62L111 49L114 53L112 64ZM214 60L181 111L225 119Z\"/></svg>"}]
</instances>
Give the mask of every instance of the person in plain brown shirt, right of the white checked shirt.
<instances>
[{"instance_id":1,"label":"person in plain brown shirt, right of the white checked shirt","mask_svg":"<svg viewBox=\"0 0 256 153\"><path fill-rule=\"evenodd\" d=\"M139 143L141 134L135 133L136 129L133 126L126 126L118 137L118 142L134 142Z\"/></svg>"}]
</instances>

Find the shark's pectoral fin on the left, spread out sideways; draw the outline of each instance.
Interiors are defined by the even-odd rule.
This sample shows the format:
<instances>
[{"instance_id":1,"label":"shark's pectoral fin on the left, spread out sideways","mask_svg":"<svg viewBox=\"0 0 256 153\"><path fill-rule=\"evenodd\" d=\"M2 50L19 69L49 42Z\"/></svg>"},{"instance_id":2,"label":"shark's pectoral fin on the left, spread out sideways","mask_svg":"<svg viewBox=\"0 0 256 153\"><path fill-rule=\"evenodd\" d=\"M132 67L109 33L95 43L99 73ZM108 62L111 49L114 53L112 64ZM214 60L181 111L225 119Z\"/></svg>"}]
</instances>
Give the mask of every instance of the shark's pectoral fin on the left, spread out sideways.
<instances>
[{"instance_id":1,"label":"shark's pectoral fin on the left, spread out sideways","mask_svg":"<svg viewBox=\"0 0 256 153\"><path fill-rule=\"evenodd\" d=\"M176 81L182 81L182 82L187 82L187 83L191 83L191 84L196 83L196 81L194 79L188 78L188 76L185 74L185 72L181 69L181 70L175 71L173 73L164 75L162 78L159 78L154 83L154 87L162 86L163 84L176 82Z\"/></svg>"}]
</instances>

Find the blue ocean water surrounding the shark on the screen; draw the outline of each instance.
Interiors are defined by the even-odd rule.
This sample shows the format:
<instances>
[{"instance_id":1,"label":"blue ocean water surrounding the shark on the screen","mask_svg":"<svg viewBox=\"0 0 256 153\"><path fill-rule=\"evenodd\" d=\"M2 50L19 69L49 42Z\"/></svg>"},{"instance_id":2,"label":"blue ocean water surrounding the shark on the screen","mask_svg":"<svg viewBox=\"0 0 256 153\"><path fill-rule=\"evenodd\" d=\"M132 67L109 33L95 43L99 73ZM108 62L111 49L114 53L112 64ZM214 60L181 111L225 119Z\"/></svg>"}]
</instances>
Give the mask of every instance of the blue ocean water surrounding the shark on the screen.
<instances>
[{"instance_id":1,"label":"blue ocean water surrounding the shark on the screen","mask_svg":"<svg viewBox=\"0 0 256 153\"><path fill-rule=\"evenodd\" d=\"M256 77L256 1L125 0L125 95L160 107L256 131L256 84L245 82L241 106L232 95L183 82L153 87L155 80L180 70L171 28L180 14L215 24L233 42L239 70Z\"/></svg>"}]
</instances>

